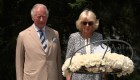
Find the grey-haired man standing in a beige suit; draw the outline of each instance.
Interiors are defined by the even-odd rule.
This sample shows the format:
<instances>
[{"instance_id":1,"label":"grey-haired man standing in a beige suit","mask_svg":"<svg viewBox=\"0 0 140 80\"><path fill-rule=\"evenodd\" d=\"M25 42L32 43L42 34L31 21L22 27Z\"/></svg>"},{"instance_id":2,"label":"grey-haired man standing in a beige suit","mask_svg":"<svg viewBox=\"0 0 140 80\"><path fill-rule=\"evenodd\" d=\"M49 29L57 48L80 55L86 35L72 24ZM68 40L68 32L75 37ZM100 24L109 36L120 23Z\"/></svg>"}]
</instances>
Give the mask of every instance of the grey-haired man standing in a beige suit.
<instances>
[{"instance_id":1,"label":"grey-haired man standing in a beige suit","mask_svg":"<svg viewBox=\"0 0 140 80\"><path fill-rule=\"evenodd\" d=\"M33 24L21 31L16 46L17 80L62 80L59 34L46 26L48 10L43 4L31 9ZM45 44L42 45L40 30Z\"/></svg>"}]
</instances>

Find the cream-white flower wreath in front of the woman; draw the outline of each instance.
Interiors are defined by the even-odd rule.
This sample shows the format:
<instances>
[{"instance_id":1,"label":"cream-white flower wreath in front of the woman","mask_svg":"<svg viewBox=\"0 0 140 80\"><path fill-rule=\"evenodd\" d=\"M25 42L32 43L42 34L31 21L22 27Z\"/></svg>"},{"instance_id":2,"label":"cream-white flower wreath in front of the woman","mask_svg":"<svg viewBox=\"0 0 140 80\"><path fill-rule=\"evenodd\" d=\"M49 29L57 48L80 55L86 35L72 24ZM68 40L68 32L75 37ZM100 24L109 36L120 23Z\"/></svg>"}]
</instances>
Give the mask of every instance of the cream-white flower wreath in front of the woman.
<instances>
[{"instance_id":1,"label":"cream-white flower wreath in front of the woman","mask_svg":"<svg viewBox=\"0 0 140 80\"><path fill-rule=\"evenodd\" d=\"M134 71L133 61L127 56L111 52L107 52L103 59L102 56L103 54L100 53L83 55L76 53L72 59L68 58L64 62L62 66L63 76L80 71L82 67L84 67L84 71L91 73L120 70L119 73L116 73L118 77Z\"/></svg>"}]
</instances>

